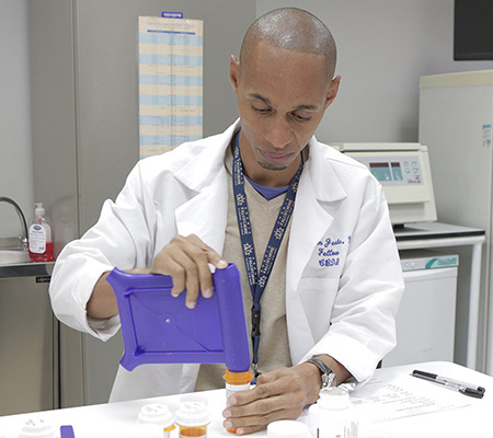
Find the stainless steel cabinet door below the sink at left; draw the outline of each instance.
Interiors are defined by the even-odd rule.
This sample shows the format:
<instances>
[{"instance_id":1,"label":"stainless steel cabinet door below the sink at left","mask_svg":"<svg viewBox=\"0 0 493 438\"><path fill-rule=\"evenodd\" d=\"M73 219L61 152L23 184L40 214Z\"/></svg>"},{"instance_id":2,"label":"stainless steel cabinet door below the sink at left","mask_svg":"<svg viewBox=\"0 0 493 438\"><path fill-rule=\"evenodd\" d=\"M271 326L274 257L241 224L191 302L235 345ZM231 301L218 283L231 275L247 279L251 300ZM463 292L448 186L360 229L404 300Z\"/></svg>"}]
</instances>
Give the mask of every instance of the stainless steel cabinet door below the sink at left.
<instances>
[{"instance_id":1,"label":"stainless steel cabinet door below the sink at left","mask_svg":"<svg viewBox=\"0 0 493 438\"><path fill-rule=\"evenodd\" d=\"M47 283L0 279L0 415L58 407L56 331Z\"/></svg>"}]
</instances>

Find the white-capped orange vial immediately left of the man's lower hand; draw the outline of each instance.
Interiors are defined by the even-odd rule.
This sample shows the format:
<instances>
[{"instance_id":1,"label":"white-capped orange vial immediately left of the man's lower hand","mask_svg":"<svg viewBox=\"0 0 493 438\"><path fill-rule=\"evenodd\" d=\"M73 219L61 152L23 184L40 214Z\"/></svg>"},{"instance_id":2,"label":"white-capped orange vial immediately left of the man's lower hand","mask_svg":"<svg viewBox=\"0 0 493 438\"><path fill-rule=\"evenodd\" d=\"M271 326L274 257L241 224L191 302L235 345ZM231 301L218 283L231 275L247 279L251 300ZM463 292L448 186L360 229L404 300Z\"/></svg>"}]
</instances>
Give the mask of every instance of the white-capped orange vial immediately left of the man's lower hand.
<instances>
[{"instance_id":1,"label":"white-capped orange vial immediately left of the man's lower hand","mask_svg":"<svg viewBox=\"0 0 493 438\"><path fill-rule=\"evenodd\" d=\"M174 423L180 427L180 438L207 437L207 425L210 423L207 401L195 395L183 397L180 400Z\"/></svg>"}]
</instances>

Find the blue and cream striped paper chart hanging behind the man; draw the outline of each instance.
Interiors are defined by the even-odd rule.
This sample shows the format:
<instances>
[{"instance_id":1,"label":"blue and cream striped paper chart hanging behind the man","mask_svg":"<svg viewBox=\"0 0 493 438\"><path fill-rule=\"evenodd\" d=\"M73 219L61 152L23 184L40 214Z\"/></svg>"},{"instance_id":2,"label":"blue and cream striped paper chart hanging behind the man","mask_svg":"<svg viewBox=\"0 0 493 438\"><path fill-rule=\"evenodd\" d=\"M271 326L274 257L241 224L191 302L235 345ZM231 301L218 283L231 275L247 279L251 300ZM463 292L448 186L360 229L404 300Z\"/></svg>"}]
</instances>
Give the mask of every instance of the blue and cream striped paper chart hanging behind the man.
<instances>
[{"instance_id":1,"label":"blue and cream striped paper chart hanging behind the man","mask_svg":"<svg viewBox=\"0 0 493 438\"><path fill-rule=\"evenodd\" d=\"M139 16L140 158L203 137L202 20Z\"/></svg>"}]
</instances>

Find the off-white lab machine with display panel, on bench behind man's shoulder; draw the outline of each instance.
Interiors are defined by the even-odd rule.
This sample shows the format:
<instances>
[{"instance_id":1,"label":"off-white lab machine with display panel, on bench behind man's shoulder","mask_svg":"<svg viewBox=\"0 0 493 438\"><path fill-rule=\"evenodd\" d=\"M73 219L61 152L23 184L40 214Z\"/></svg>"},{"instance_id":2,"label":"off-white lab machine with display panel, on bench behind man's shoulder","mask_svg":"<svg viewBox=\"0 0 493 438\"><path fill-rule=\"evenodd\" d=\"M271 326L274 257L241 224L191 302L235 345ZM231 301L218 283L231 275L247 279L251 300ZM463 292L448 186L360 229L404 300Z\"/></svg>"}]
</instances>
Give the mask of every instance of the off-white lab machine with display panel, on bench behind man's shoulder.
<instances>
[{"instance_id":1,"label":"off-white lab machine with display panel, on bench behind man's shoulder","mask_svg":"<svg viewBox=\"0 0 493 438\"><path fill-rule=\"evenodd\" d=\"M428 149L416 142L331 143L380 182L393 224L437 220Z\"/></svg>"}]
</instances>

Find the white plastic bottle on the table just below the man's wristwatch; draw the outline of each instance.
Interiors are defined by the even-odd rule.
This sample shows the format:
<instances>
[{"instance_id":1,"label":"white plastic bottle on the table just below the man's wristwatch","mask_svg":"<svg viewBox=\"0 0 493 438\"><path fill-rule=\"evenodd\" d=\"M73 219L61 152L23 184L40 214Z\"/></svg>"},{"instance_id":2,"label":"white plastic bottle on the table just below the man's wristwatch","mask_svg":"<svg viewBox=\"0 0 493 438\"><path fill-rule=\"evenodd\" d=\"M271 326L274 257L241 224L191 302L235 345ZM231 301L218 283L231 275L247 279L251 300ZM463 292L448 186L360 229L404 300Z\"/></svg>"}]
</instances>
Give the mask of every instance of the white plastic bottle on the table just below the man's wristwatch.
<instances>
[{"instance_id":1,"label":"white plastic bottle on the table just below the man's wristwatch","mask_svg":"<svg viewBox=\"0 0 493 438\"><path fill-rule=\"evenodd\" d=\"M358 422L352 408L349 393L343 388L326 388L308 410L308 424L318 438L358 438Z\"/></svg>"}]
</instances>

